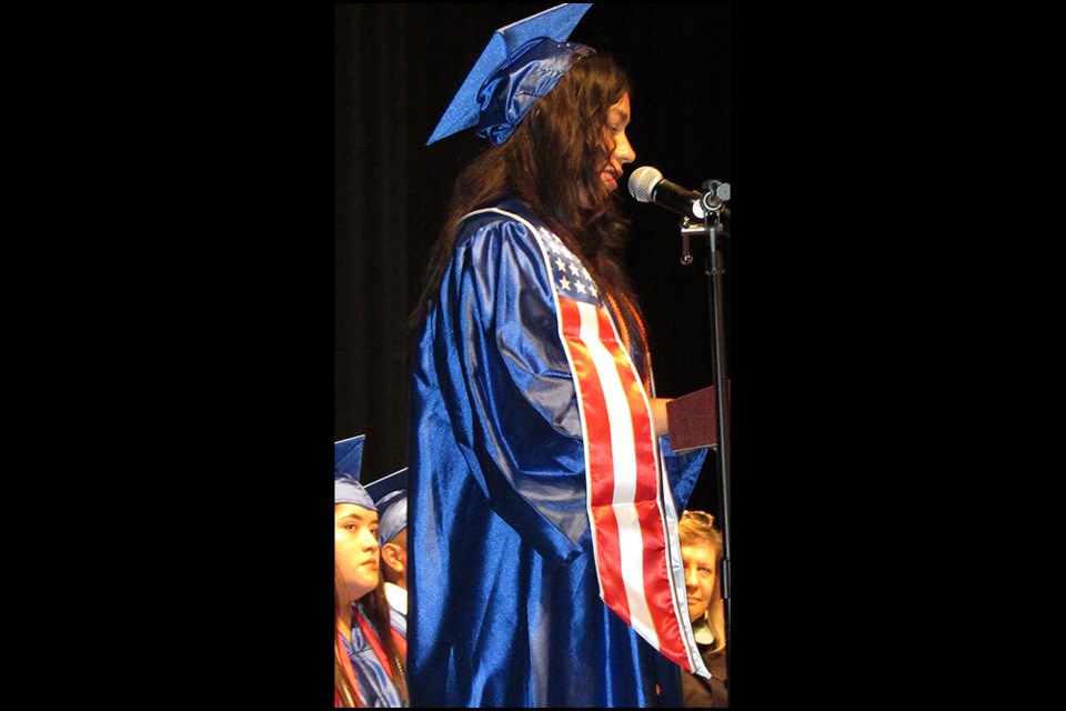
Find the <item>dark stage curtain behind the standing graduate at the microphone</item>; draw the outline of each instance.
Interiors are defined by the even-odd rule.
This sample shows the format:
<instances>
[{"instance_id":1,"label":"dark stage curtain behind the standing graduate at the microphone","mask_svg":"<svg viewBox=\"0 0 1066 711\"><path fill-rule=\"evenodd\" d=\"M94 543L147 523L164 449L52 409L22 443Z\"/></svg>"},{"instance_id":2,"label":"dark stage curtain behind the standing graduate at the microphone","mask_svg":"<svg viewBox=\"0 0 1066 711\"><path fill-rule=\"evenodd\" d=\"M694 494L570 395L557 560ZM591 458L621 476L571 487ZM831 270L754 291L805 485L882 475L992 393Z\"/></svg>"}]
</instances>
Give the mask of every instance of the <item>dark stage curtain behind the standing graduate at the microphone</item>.
<instances>
[{"instance_id":1,"label":"dark stage curtain behind the standing graduate at the microphone","mask_svg":"<svg viewBox=\"0 0 1066 711\"><path fill-rule=\"evenodd\" d=\"M487 146L472 131L425 141L492 32L550 7L335 8L334 437L366 434L368 480L408 463L406 317L452 181ZM627 133L637 160L626 177L654 166L687 188L732 180L728 4L596 3L571 39L611 52L631 74ZM636 203L624 182L620 190L633 223L628 267L645 310L657 393L708 385L705 244L694 244L696 261L682 267L678 218ZM731 281L728 272L728 288ZM691 508L715 510L714 473L711 458Z\"/></svg>"}]
</instances>

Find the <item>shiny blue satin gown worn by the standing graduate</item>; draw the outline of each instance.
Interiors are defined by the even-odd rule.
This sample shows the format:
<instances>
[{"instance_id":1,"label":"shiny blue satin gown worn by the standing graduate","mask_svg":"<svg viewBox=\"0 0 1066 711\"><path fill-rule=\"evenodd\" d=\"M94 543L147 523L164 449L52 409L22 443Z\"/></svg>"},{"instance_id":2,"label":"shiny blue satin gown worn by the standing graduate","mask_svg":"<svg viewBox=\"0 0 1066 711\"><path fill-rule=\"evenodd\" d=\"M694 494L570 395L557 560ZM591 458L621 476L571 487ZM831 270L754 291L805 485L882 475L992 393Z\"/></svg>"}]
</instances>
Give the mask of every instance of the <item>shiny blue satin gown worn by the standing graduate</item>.
<instances>
[{"instance_id":1,"label":"shiny blue satin gown worn by the standing graduate","mask_svg":"<svg viewBox=\"0 0 1066 711\"><path fill-rule=\"evenodd\" d=\"M542 224L521 202L497 207ZM575 383L549 279L529 227L470 217L418 336L413 707L681 705L680 668L600 599ZM680 512L706 450L660 443Z\"/></svg>"}]
</instances>

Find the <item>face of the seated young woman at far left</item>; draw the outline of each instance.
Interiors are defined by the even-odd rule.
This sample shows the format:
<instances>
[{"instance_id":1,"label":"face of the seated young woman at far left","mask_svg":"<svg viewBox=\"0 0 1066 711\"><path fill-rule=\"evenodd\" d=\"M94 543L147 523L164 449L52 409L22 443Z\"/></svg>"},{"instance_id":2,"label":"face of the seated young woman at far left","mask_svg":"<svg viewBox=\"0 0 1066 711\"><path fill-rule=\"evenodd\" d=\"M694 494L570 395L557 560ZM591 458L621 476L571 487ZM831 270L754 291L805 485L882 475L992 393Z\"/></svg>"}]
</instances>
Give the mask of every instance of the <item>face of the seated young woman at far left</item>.
<instances>
[{"instance_id":1,"label":"face of the seated young woman at far left","mask_svg":"<svg viewBox=\"0 0 1066 711\"><path fill-rule=\"evenodd\" d=\"M378 512L354 503L333 507L333 561L343 603L378 587Z\"/></svg>"}]
</instances>

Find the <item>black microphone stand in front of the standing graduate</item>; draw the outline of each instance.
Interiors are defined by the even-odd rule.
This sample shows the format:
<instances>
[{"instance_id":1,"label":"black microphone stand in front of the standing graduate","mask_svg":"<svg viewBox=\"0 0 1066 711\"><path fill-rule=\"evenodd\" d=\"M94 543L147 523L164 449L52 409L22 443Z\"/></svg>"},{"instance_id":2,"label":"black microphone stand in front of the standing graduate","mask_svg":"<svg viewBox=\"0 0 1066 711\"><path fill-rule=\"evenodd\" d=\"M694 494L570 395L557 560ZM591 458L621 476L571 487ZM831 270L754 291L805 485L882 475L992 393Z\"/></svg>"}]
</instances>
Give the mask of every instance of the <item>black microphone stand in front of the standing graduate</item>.
<instances>
[{"instance_id":1,"label":"black microphone stand in front of the standing graduate","mask_svg":"<svg viewBox=\"0 0 1066 711\"><path fill-rule=\"evenodd\" d=\"M694 234L706 236L708 249L705 272L711 298L711 362L714 368L714 382L717 385L714 389L718 439L715 454L721 493L717 520L722 528L722 561L718 570L722 575L722 602L725 611L725 687L728 689L733 679L731 665L731 651L733 649L733 638L731 637L732 595L730 593L730 387L725 367L725 296L723 289L725 260L718 250L717 241L722 234L728 234L722 228L722 217L730 213L725 203L730 199L731 188L730 183L726 182L705 180L703 189L705 193L698 201L704 213L702 223L688 217L681 219L681 263L685 266L692 263L688 238ZM698 214L698 211L694 211L694 214Z\"/></svg>"}]
</instances>

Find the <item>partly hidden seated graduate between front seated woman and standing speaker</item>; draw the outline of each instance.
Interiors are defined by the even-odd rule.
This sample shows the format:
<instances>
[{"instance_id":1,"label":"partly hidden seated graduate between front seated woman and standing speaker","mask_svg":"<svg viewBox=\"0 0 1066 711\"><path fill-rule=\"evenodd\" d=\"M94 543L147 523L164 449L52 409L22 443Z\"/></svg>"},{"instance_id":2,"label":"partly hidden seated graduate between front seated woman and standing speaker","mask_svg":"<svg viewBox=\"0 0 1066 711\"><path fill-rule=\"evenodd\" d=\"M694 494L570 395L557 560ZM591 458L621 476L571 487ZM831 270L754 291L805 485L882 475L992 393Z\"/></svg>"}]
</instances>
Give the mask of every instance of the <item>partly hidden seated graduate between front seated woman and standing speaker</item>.
<instances>
[{"instance_id":1,"label":"partly hidden seated graduate between front seated woman and standing speaker","mask_svg":"<svg viewBox=\"0 0 1066 711\"><path fill-rule=\"evenodd\" d=\"M391 608L392 627L408 635L408 470L366 484L378 507L381 577Z\"/></svg>"}]
</instances>

